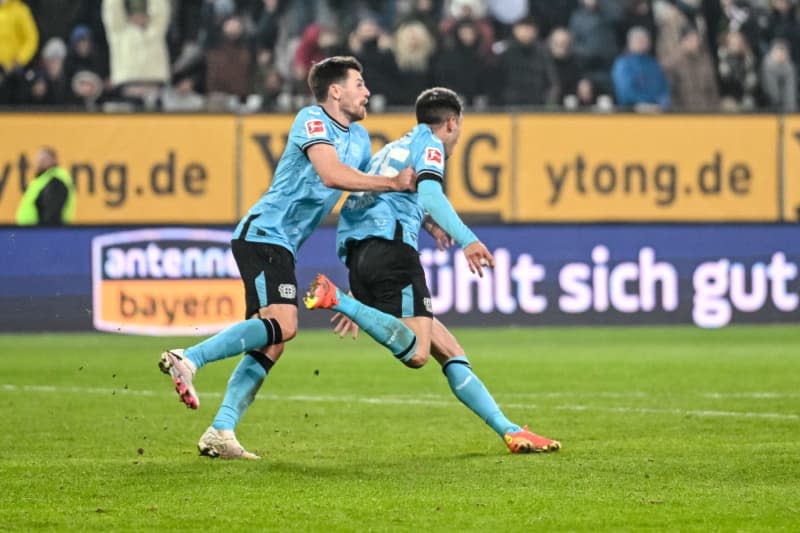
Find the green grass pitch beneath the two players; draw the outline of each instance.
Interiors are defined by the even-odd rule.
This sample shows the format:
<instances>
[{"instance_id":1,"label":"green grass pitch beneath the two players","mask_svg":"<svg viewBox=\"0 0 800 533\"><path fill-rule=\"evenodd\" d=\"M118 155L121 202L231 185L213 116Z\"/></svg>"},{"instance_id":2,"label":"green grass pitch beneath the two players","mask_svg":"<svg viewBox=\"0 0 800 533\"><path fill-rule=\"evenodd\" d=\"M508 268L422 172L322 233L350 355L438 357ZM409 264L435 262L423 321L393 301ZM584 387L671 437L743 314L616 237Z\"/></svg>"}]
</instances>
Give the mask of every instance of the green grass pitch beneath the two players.
<instances>
[{"instance_id":1,"label":"green grass pitch beneath the two players","mask_svg":"<svg viewBox=\"0 0 800 533\"><path fill-rule=\"evenodd\" d=\"M190 339L0 336L0 530L797 531L800 328L456 330L518 423L511 455L366 336L303 331L238 429L259 462L199 457L200 409L156 367Z\"/></svg>"}]
</instances>

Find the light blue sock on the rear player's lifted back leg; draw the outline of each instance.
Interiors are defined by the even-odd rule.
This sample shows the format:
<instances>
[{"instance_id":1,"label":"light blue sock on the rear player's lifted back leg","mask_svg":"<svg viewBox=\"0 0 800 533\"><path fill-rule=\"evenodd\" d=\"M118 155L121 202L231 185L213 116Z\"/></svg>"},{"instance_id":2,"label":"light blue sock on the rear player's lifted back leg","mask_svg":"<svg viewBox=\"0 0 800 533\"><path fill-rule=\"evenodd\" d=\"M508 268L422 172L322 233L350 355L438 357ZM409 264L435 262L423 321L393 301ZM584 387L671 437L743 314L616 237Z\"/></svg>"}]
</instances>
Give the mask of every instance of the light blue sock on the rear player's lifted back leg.
<instances>
[{"instance_id":1,"label":"light blue sock on the rear player's lifted back leg","mask_svg":"<svg viewBox=\"0 0 800 533\"><path fill-rule=\"evenodd\" d=\"M187 348L184 357L200 368L212 361L226 359L269 344L277 344L281 340L280 337L280 326L276 320L251 318L228 326L213 337Z\"/></svg>"}]
</instances>

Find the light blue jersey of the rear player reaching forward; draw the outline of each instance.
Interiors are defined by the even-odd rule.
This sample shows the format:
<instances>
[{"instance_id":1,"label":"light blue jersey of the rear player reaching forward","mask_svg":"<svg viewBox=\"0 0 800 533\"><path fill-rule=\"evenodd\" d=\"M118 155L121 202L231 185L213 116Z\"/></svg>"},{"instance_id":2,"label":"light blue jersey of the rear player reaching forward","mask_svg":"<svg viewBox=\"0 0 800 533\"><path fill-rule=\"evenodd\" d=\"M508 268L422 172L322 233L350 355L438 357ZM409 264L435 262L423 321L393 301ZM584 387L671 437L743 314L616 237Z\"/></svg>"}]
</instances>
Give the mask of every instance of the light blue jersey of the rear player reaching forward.
<instances>
[{"instance_id":1,"label":"light blue jersey of the rear player reaching forward","mask_svg":"<svg viewBox=\"0 0 800 533\"><path fill-rule=\"evenodd\" d=\"M297 250L342 195L322 183L306 155L309 147L320 143L332 145L339 160L351 167L364 170L369 162L371 145L362 126L346 128L318 105L301 109L272 185L239 222L234 238L283 246L297 257Z\"/></svg>"}]
</instances>

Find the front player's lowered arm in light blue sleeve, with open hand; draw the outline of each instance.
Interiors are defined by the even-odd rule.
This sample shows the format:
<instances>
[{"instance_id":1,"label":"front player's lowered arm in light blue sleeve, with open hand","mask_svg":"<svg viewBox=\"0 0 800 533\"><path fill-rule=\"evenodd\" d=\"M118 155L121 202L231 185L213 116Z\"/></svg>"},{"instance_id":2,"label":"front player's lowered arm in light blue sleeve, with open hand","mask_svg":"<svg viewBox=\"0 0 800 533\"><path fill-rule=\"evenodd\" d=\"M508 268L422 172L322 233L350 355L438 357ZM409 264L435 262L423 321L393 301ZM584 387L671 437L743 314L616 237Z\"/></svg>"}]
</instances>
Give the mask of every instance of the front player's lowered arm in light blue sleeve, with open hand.
<instances>
[{"instance_id":1,"label":"front player's lowered arm in light blue sleeve, with open hand","mask_svg":"<svg viewBox=\"0 0 800 533\"><path fill-rule=\"evenodd\" d=\"M483 277L483 267L493 267L494 257L453 209L444 195L442 184L436 180L424 180L418 184L417 192L422 207L463 248L470 271Z\"/></svg>"}]
</instances>

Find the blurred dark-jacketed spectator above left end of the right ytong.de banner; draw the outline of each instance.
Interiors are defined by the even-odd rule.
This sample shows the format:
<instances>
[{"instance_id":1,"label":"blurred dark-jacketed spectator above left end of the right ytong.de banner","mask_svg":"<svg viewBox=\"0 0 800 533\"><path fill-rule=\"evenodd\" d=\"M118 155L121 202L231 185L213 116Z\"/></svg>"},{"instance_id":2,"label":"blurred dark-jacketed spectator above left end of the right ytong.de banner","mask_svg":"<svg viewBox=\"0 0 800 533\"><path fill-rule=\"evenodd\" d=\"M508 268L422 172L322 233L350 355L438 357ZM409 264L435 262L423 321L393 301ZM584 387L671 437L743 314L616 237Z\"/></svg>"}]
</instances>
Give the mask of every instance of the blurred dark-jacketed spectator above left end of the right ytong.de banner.
<instances>
[{"instance_id":1,"label":"blurred dark-jacketed spectator above left end of the right ytong.de banner","mask_svg":"<svg viewBox=\"0 0 800 533\"><path fill-rule=\"evenodd\" d=\"M538 41L531 17L518 21L498 55L495 101L506 105L545 105L556 102L558 76L546 48Z\"/></svg>"}]
</instances>

